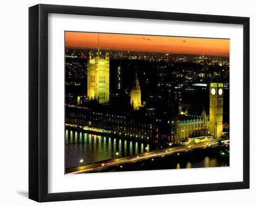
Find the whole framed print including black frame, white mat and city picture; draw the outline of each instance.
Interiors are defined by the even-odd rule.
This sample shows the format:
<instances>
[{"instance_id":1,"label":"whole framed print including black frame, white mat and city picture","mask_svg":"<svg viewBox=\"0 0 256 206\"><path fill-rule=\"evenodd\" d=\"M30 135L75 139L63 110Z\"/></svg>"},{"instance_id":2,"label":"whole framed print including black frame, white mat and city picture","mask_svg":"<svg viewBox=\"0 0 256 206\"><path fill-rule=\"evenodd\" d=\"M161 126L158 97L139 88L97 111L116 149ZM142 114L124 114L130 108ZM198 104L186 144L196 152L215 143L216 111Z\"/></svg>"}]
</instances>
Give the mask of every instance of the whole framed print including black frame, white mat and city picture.
<instances>
[{"instance_id":1,"label":"whole framed print including black frame, white mat and city picture","mask_svg":"<svg viewBox=\"0 0 256 206\"><path fill-rule=\"evenodd\" d=\"M249 18L29 8L30 199L246 188Z\"/></svg>"}]
</instances>

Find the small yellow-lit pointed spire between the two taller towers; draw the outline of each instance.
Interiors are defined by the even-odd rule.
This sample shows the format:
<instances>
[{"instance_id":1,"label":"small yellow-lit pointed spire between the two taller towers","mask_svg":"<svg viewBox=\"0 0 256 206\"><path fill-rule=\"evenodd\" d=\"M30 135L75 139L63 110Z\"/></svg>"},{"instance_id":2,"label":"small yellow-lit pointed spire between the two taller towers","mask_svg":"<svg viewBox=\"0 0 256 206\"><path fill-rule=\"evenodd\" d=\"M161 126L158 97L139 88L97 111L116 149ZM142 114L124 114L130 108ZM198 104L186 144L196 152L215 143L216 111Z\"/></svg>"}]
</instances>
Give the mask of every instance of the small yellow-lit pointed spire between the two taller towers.
<instances>
[{"instance_id":1,"label":"small yellow-lit pointed spire between the two taller towers","mask_svg":"<svg viewBox=\"0 0 256 206\"><path fill-rule=\"evenodd\" d=\"M141 88L137 76L135 75L134 86L131 89L130 104L133 106L133 110L138 110L141 107Z\"/></svg>"}]
</instances>

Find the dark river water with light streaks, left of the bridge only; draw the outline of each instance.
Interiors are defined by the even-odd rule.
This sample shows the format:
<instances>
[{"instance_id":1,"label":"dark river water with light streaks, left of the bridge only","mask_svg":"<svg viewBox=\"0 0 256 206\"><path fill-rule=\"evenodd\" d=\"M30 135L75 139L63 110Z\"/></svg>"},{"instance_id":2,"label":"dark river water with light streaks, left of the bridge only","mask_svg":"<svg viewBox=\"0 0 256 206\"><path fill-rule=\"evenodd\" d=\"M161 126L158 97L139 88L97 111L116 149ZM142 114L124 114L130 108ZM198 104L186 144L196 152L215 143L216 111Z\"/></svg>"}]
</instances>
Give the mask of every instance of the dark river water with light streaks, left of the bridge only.
<instances>
[{"instance_id":1,"label":"dark river water with light streaks, left of the bridge only","mask_svg":"<svg viewBox=\"0 0 256 206\"><path fill-rule=\"evenodd\" d=\"M156 149L155 146L137 140L105 137L66 130L66 168L89 164L104 159L134 155ZM147 147L147 149L146 149ZM116 153L118 152L118 155Z\"/></svg>"}]
</instances>

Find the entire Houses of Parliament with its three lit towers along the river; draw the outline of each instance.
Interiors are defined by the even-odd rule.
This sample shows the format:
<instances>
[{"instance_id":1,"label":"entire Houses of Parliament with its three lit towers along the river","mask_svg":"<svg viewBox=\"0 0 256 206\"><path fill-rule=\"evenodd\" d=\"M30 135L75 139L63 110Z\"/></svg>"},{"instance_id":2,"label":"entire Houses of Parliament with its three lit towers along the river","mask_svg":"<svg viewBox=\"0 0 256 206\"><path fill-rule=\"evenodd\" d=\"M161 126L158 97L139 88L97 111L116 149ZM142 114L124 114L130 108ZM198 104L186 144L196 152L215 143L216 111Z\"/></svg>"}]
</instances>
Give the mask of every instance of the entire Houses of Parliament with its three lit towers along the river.
<instances>
[{"instance_id":1,"label":"entire Houses of Parliament with its three lit towers along the river","mask_svg":"<svg viewBox=\"0 0 256 206\"><path fill-rule=\"evenodd\" d=\"M87 102L66 106L66 126L91 127L100 133L154 142L182 143L190 138L220 138L223 118L223 82L216 75L209 84L209 115L179 113L174 103L162 108L141 103L140 80L137 72L130 88L129 107L117 108L109 103L109 53L88 52ZM120 72L120 67L119 70ZM120 78L120 76L118 76ZM119 86L120 86L120 80ZM104 134L102 134L104 135Z\"/></svg>"}]
</instances>

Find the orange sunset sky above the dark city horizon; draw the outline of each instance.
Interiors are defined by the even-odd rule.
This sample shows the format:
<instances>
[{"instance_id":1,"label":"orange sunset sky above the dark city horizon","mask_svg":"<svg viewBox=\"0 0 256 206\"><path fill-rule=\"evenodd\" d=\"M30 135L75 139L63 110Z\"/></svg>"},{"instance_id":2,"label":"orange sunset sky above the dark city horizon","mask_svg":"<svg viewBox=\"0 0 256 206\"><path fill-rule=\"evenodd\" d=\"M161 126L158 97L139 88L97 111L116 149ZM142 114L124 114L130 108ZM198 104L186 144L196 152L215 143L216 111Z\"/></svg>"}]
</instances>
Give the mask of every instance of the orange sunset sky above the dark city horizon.
<instances>
[{"instance_id":1,"label":"orange sunset sky above the dark city horizon","mask_svg":"<svg viewBox=\"0 0 256 206\"><path fill-rule=\"evenodd\" d=\"M65 32L65 46L98 47L98 33ZM143 51L229 56L229 40L173 36L99 33L99 47L122 51Z\"/></svg>"}]
</instances>

